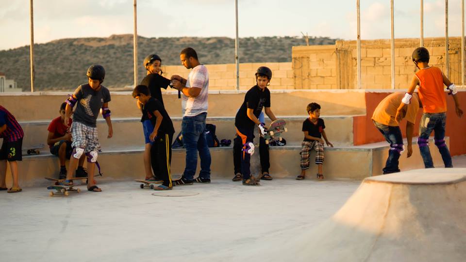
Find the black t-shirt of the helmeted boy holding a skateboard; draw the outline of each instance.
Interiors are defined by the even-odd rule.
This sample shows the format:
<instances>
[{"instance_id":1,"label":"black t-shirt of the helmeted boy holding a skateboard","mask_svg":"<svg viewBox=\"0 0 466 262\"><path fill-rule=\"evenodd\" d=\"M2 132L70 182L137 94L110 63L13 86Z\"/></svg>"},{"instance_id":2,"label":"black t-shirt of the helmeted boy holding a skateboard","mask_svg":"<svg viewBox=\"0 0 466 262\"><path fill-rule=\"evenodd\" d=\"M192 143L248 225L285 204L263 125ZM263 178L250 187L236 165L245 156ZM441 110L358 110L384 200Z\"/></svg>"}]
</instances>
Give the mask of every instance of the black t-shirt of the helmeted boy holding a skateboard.
<instances>
[{"instance_id":1,"label":"black t-shirt of the helmeted boy holding a skateboard","mask_svg":"<svg viewBox=\"0 0 466 262\"><path fill-rule=\"evenodd\" d=\"M254 128L255 123L248 117L248 108L254 109L254 116L257 118L264 107L270 107L270 90L259 86L251 87L244 96L243 105L239 108L234 119L234 125L243 128Z\"/></svg>"}]
</instances>

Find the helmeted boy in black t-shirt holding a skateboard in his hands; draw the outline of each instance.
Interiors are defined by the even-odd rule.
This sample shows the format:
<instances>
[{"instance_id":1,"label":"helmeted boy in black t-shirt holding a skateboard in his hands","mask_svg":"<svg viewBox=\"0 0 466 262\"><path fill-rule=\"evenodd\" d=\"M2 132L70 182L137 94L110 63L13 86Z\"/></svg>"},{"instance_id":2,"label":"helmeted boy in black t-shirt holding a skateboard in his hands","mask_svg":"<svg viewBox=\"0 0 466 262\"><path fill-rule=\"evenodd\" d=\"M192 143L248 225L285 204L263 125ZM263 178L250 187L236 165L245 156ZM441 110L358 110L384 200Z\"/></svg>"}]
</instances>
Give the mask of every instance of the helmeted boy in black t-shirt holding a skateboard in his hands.
<instances>
[{"instance_id":1,"label":"helmeted boy in black t-shirt holding a skateboard in his hands","mask_svg":"<svg viewBox=\"0 0 466 262\"><path fill-rule=\"evenodd\" d=\"M254 176L250 175L250 157L254 154L254 143L252 142L254 139L254 126L257 125L261 135L266 133L265 124L257 119L262 108L265 107L265 113L270 120L276 120L270 109L270 91L267 88L270 79L272 79L272 70L267 67L259 67L255 76L257 84L246 93L244 102L236 113L234 120L237 134L235 140L241 140L240 143L243 145L241 147L241 173L243 175L243 185L245 186L259 185L258 179L256 180Z\"/></svg>"}]
</instances>

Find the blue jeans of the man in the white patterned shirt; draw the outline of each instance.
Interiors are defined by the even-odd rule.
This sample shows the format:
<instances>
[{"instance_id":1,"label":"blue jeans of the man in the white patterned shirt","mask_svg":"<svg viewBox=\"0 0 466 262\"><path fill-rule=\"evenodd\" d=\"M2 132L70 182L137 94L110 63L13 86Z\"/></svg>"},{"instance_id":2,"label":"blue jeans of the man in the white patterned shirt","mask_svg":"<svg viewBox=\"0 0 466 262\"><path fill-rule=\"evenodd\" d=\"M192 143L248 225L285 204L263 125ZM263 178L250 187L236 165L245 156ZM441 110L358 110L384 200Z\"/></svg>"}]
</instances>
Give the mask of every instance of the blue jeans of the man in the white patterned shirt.
<instances>
[{"instance_id":1,"label":"blue jeans of the man in the white patterned shirt","mask_svg":"<svg viewBox=\"0 0 466 262\"><path fill-rule=\"evenodd\" d=\"M198 151L200 156L201 178L210 179L210 151L205 139L205 119L207 113L200 113L194 117L183 117L181 122L181 133L183 145L186 147L186 167L183 178L193 180L198 165Z\"/></svg>"}]
</instances>

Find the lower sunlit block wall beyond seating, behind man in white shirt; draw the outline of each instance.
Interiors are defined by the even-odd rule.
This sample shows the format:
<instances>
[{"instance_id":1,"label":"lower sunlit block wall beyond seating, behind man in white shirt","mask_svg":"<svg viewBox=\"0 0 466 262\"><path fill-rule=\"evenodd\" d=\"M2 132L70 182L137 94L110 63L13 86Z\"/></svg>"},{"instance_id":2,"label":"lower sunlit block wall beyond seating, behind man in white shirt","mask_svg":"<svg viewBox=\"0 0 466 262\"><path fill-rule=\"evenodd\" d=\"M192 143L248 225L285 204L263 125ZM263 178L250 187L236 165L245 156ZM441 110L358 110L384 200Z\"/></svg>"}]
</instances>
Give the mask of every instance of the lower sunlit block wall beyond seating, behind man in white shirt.
<instances>
[{"instance_id":1,"label":"lower sunlit block wall beyond seating, behind man in white shirt","mask_svg":"<svg viewBox=\"0 0 466 262\"><path fill-rule=\"evenodd\" d=\"M239 65L239 87L242 90L249 89L256 84L255 72L257 68L266 66L273 72L270 81L270 89L294 89L293 69L290 62L287 63L242 63ZM209 71L210 90L232 90L236 88L235 64L206 65ZM162 66L166 78L178 74L188 77L189 70L183 66Z\"/></svg>"}]
</instances>

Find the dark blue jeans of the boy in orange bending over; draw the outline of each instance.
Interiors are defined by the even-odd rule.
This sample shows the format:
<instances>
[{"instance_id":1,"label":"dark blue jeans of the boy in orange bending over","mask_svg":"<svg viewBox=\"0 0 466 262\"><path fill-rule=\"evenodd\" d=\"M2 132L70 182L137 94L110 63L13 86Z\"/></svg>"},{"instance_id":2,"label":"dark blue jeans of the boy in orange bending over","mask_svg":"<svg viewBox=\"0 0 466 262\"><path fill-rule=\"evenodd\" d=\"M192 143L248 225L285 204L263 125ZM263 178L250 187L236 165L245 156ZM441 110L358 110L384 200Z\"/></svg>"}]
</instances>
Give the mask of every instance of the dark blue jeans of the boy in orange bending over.
<instances>
[{"instance_id":1,"label":"dark blue jeans of the boy in orange bending over","mask_svg":"<svg viewBox=\"0 0 466 262\"><path fill-rule=\"evenodd\" d=\"M379 129L383 137L390 143L390 150L388 150L388 158L383 168L383 174L390 174L399 172L399 156L403 150L403 137L399 126L389 126L376 121L373 121L375 127Z\"/></svg>"}]
</instances>

